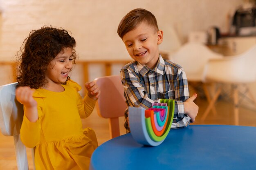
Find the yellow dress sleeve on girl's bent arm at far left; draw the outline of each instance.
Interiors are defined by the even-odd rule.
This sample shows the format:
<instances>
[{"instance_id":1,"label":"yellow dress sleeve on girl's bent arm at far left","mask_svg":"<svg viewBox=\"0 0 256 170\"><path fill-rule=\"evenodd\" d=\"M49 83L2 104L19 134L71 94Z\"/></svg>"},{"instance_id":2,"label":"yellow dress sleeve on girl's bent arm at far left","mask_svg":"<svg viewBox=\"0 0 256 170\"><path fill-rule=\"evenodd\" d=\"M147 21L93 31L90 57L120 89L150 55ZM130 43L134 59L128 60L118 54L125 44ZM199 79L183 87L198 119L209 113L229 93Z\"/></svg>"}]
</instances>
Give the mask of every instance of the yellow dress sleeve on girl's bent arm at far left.
<instances>
[{"instance_id":1,"label":"yellow dress sleeve on girl's bent arm at far left","mask_svg":"<svg viewBox=\"0 0 256 170\"><path fill-rule=\"evenodd\" d=\"M35 97L37 94L34 94L33 97L37 101L37 112L38 120L36 122L31 122L27 119L26 115L23 116L22 125L20 128L20 139L22 143L28 148L34 148L40 141L40 131L41 131L41 119L43 115L43 102L40 102L42 98ZM24 113L26 113L26 107L24 106Z\"/></svg>"}]
</instances>

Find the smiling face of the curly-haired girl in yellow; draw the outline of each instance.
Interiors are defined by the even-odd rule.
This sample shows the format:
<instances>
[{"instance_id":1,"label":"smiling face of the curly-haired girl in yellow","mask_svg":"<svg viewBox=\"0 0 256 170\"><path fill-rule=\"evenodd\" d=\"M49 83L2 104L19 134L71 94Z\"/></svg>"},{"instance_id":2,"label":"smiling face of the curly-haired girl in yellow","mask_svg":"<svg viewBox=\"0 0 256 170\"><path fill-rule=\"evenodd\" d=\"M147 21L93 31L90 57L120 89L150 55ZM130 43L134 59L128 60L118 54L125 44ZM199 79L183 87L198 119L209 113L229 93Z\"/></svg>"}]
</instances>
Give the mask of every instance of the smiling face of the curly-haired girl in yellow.
<instances>
[{"instance_id":1,"label":"smiling face of the curly-haired girl in yellow","mask_svg":"<svg viewBox=\"0 0 256 170\"><path fill-rule=\"evenodd\" d=\"M54 60L52 60L49 65L45 75L48 80L48 84L45 86L54 87L60 85L67 81L68 73L72 69L72 48L64 48L60 53L56 55Z\"/></svg>"}]
</instances>

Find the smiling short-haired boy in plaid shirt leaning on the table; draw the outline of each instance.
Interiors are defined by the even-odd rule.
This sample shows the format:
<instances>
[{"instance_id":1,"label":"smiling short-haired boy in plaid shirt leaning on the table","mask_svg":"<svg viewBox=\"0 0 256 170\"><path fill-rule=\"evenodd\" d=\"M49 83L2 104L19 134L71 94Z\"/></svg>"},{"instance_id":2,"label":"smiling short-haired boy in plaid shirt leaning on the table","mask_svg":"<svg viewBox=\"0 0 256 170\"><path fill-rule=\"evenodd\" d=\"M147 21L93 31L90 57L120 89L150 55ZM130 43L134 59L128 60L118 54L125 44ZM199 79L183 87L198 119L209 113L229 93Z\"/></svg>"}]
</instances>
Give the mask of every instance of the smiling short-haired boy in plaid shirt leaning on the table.
<instances>
[{"instance_id":1,"label":"smiling short-haired boy in plaid shirt leaning on the table","mask_svg":"<svg viewBox=\"0 0 256 170\"><path fill-rule=\"evenodd\" d=\"M197 95L189 98L183 68L159 54L158 45L163 41L163 31L158 29L155 16L145 9L134 9L121 20L117 33L130 57L135 60L126 64L120 72L126 104L148 109L159 99L175 99L171 128L194 122L198 106L193 100ZM124 126L130 132L128 109L125 118Z\"/></svg>"}]
</instances>

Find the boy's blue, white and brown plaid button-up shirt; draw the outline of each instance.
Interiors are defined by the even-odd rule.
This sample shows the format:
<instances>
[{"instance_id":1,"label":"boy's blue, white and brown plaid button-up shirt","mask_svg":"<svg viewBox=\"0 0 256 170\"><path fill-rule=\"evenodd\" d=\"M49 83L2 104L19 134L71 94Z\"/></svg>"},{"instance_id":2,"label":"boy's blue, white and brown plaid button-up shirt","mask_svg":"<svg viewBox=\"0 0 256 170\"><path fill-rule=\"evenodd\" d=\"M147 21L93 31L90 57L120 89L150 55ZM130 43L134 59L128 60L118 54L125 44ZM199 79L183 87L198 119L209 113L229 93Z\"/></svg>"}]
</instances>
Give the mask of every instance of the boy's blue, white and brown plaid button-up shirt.
<instances>
[{"instance_id":1,"label":"boy's blue, white and brown plaid button-up shirt","mask_svg":"<svg viewBox=\"0 0 256 170\"><path fill-rule=\"evenodd\" d=\"M126 64L120 72L127 106L148 109L160 99L175 99L171 128L188 126L190 117L184 114L183 102L189 98L188 82L184 69L159 55L156 67L150 70L136 61ZM125 118L128 117L128 108ZM124 124L129 132L127 121Z\"/></svg>"}]
</instances>

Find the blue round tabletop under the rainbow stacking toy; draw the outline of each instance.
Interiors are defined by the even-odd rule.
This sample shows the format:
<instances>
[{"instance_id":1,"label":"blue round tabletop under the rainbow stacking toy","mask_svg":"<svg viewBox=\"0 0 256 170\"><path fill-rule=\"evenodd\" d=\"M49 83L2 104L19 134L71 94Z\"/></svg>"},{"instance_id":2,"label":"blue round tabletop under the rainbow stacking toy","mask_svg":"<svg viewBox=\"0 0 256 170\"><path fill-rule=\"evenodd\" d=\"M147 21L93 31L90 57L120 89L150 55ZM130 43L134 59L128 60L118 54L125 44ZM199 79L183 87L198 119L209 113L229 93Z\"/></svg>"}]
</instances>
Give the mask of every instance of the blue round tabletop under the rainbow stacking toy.
<instances>
[{"instance_id":1,"label":"blue round tabletop under the rainbow stacking toy","mask_svg":"<svg viewBox=\"0 0 256 170\"><path fill-rule=\"evenodd\" d=\"M256 127L190 125L155 147L129 133L100 145L90 170L256 170Z\"/></svg>"}]
</instances>

